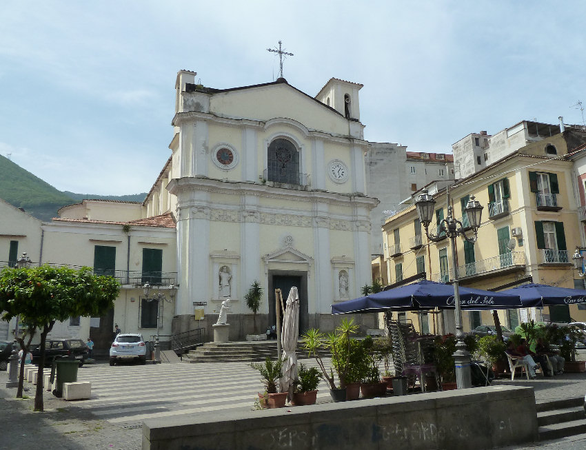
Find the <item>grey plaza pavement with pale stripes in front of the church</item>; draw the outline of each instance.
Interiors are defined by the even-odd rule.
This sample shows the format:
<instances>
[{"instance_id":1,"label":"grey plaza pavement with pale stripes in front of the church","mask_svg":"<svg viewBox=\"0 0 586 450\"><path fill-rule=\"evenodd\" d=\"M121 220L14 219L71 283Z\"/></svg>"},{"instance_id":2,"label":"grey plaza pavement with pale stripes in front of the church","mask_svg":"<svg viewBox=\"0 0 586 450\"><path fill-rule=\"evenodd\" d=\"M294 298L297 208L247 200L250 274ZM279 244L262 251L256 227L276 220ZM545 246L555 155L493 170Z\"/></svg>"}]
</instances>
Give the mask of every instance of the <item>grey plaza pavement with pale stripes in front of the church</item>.
<instances>
[{"instance_id":1,"label":"grey plaza pavement with pale stripes in front of the church","mask_svg":"<svg viewBox=\"0 0 586 450\"><path fill-rule=\"evenodd\" d=\"M301 360L316 365L314 360ZM329 360L327 360L329 364ZM29 399L15 400L16 389L5 389L0 372L0 449L141 449L141 422L208 411L248 411L262 391L258 371L244 362L208 364L84 365L78 380L92 383L92 398L65 402L45 391L44 413L32 413L34 386L26 382ZM495 384L534 387L536 401L584 396L586 373ZM319 402L329 402L324 381ZM37 442L39 445L37 445ZM566 446L566 447L564 447ZM568 447L569 446L569 447ZM572 447L574 446L574 447ZM507 449L584 449L586 436Z\"/></svg>"}]
</instances>

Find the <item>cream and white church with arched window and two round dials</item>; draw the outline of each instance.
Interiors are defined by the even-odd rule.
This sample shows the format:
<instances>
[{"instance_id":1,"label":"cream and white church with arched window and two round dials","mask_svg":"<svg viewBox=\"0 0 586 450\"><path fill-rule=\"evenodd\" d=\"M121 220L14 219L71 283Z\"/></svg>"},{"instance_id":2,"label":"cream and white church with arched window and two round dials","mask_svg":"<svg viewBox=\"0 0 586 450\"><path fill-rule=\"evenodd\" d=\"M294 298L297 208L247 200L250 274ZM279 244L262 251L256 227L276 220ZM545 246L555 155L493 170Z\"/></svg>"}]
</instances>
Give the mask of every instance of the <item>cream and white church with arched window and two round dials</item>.
<instances>
[{"instance_id":1,"label":"cream and white church with arched window and two round dials","mask_svg":"<svg viewBox=\"0 0 586 450\"><path fill-rule=\"evenodd\" d=\"M366 195L361 87L331 79L312 97L281 78L216 90L179 72L172 156L144 203L147 216L176 214L175 332L211 331L230 298L230 338L252 333L254 281L259 331L275 323L274 289L286 300L292 286L301 329L328 329L330 305L371 283L378 201Z\"/></svg>"}]
</instances>

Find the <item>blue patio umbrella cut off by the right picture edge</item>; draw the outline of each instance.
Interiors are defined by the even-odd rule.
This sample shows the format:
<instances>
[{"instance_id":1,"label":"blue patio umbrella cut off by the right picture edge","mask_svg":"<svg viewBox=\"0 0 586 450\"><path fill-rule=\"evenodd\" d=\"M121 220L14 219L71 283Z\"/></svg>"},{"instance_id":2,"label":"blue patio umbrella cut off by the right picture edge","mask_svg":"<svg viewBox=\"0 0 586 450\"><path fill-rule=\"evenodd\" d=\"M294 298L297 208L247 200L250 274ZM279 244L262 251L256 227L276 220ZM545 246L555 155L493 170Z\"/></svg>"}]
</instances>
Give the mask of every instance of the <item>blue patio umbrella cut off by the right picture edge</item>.
<instances>
[{"instance_id":1,"label":"blue patio umbrella cut off by the right picture edge","mask_svg":"<svg viewBox=\"0 0 586 450\"><path fill-rule=\"evenodd\" d=\"M574 305L586 303L586 290L572 289L570 287L556 287L529 283L512 287L501 294L512 294L521 297L523 307L540 307L555 305Z\"/></svg>"}]
</instances>

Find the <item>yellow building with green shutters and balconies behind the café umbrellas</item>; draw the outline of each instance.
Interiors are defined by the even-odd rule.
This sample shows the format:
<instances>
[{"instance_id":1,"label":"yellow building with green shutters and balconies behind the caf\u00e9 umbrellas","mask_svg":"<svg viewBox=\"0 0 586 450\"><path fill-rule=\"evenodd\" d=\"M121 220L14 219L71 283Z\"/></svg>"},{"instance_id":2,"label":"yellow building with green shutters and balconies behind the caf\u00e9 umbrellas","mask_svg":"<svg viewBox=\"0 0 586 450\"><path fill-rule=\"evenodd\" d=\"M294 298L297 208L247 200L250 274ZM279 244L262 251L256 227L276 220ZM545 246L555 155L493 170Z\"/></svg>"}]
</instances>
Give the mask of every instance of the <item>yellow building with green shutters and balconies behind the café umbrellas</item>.
<instances>
[{"instance_id":1,"label":"yellow building with green shutters and balconies behind the caf\u00e9 umbrellas","mask_svg":"<svg viewBox=\"0 0 586 450\"><path fill-rule=\"evenodd\" d=\"M566 130L529 143L480 172L449 187L453 216L462 218L469 196L484 206L475 245L457 238L454 261L449 239L430 242L425 236L412 196L412 205L390 217L383 225L386 278L403 283L421 274L434 281L452 279L454 266L461 285L479 289L506 289L532 280L534 283L574 287L578 278L572 266L574 247L580 246L578 204L574 196L573 166L568 153L585 141L585 134ZM436 200L436 221L429 227L437 234L437 223L447 216L445 186L427 186ZM472 236L472 231L467 232ZM576 285L582 286L581 280ZM453 311L438 314L433 322L427 314L409 314L422 332L454 332ZM501 323L511 328L529 319L585 320L586 311L576 305L498 311ZM464 311L464 331L493 323L491 311ZM433 325L431 325L433 324Z\"/></svg>"}]
</instances>

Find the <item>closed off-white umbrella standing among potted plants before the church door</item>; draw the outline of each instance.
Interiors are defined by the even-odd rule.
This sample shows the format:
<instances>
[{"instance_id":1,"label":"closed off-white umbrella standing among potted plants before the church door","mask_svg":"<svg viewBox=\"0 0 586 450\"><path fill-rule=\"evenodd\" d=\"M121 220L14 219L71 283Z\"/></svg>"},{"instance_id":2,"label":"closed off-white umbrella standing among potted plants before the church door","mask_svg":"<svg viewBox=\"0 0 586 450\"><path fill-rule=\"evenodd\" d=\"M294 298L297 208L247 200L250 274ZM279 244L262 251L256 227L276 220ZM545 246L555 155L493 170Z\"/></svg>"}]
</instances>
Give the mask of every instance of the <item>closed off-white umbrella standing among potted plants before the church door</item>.
<instances>
[{"instance_id":1,"label":"closed off-white umbrella standing among potted plants before the church door","mask_svg":"<svg viewBox=\"0 0 586 450\"><path fill-rule=\"evenodd\" d=\"M299 336L299 294L297 288L292 287L285 304L285 318L281 333L283 347L283 377L281 378L281 392L288 391L289 400L293 392L293 382L297 378L297 336Z\"/></svg>"}]
</instances>

